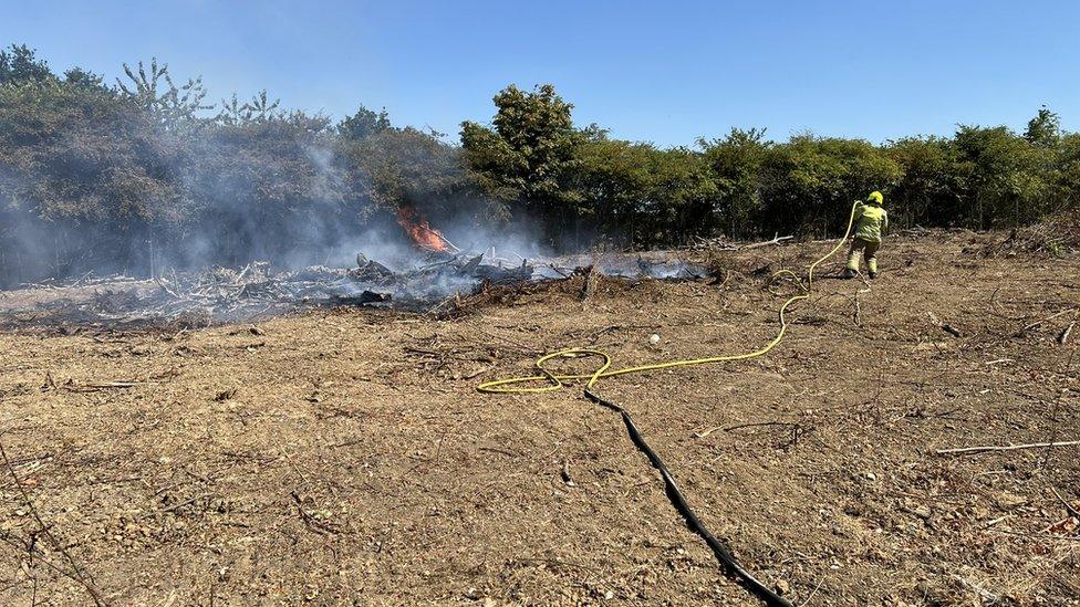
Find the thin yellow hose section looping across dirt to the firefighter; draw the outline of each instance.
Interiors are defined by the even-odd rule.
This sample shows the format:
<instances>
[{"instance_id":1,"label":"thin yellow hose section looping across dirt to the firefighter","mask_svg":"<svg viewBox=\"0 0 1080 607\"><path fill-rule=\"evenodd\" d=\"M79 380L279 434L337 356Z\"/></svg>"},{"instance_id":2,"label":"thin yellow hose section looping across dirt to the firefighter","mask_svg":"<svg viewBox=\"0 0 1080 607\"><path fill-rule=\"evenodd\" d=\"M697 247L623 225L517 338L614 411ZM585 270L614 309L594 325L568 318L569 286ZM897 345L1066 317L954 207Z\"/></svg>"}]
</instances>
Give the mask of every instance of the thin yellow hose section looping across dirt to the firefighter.
<instances>
[{"instance_id":1,"label":"thin yellow hose section looping across dirt to the firefighter","mask_svg":"<svg viewBox=\"0 0 1080 607\"><path fill-rule=\"evenodd\" d=\"M668 360L666 363L652 363L648 365L638 365L636 367L624 367L621 369L609 370L611 368L612 358L606 353L601 352L599 349L591 349L591 348L568 348L551 354L547 354L544 356L541 356L539 359L537 359L536 362L537 369L541 373L541 375L495 379L492 381L485 381L484 384L480 384L479 386L476 387L476 389L481 393L488 393L488 394L550 393L553 390L562 389L565 386L565 384L563 384L564 381L573 381L577 379L588 379L589 381L585 384L585 387L592 388L596 384L596 381L599 381L601 378L604 377L615 377L619 375L644 373L644 371L657 370L657 369L671 369L675 367L688 367L690 365L705 365L708 363L747 360L750 358L757 358L758 356L764 356L768 354L769 350L775 348L777 344L779 344L783 339L783 336L788 331L788 320L786 316L788 312L788 307L795 302L807 300L810 297L810 290L813 286L814 268L823 263L832 255L837 254L837 251L839 251L840 248L843 247L844 242L848 240L848 237L851 234L851 227L855 220L855 207L858 205L859 202L855 202L851 207L851 214L848 217L848 228L847 230L844 230L843 238L841 238L840 241L837 242L837 245L833 247L832 250L829 251L824 257L810 264L810 268L808 269L807 272L806 285L801 285L800 283L800 285L803 287L802 294L789 299L788 301L783 302L783 305L780 306L780 312L779 312L780 332L777 333L777 336L773 337L771 342L769 342L765 346L754 352L747 352L744 354L729 354L724 356L709 356L706 358L689 358L686 360ZM781 270L776 274L773 274L773 278L785 273L795 275L795 273L791 272L790 270ZM599 356L603 360L603 363L600 365L600 367L596 370L586 374L559 375L559 374L553 374L543 367L543 364L547 363L548 360L551 360L552 358L578 358L582 356ZM546 386L520 386L520 384L534 384L538 381L546 381L547 385Z\"/></svg>"}]
</instances>

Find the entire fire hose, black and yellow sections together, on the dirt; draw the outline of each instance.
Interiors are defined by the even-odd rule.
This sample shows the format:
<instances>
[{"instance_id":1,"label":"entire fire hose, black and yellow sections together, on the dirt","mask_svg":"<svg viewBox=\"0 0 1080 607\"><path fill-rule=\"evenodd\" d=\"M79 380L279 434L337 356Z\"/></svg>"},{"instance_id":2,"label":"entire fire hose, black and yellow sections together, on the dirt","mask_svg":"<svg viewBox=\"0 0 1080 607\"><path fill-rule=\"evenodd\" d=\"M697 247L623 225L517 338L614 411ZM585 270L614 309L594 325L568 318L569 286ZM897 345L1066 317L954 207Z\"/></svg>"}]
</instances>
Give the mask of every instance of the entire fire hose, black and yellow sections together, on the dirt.
<instances>
[{"instance_id":1,"label":"entire fire hose, black and yellow sections together, on the dirt","mask_svg":"<svg viewBox=\"0 0 1080 607\"><path fill-rule=\"evenodd\" d=\"M567 348L551 354L547 354L544 356L541 356L539 359L537 359L536 366L540 375L523 376L523 377L508 377L503 379L496 379L492 381L485 381L484 384L477 386L476 389L487 394L550 393L550 391L560 390L564 388L567 386L565 384L567 381L574 381L581 379L588 380L585 383L585 389L584 389L585 398L588 398L589 400L598 405L602 405L614 411L617 411L619 415L622 416L623 423L626 426L627 432L630 432L631 440L633 440L634 444L642 452L645 453L650 462L653 464L654 468L656 468L656 470L660 471L661 477L664 479L664 485L667 491L668 499L671 499L672 501L672 504L679 512L679 514L682 514L683 517L686 520L687 525L689 525L690 528L693 528L698 535L700 535L705 540L706 544L708 544L709 548L713 550L713 554L716 555L717 561L719 561L720 564L724 566L727 574L736 578L737 580L741 582L748 590L750 590L755 596L764 600L770 607L791 607L790 601L788 601L780 595L776 594L771 588L769 588L760 580L755 578L750 572L744 568L739 564L738 559L735 558L735 555L731 554L731 551L727 546L725 546L723 542L717 540L716 536L712 534L712 532L708 531L708 528L702 523L702 521L694 513L694 510L686 502L685 495L683 494L682 490L678 488L678 483L675 482L675 477L667 469L667 465L664 463L664 460L661 459L661 457L656 453L656 451L654 451L652 447L650 447L648 443L645 441L645 438L637 429L637 426L634 423L634 419L630 415L630 412L623 407L621 407L620 405L616 405L615 402L612 402L599 396L596 393L593 391L593 387L595 387L598 381L606 377L616 377L620 375L629 375L632 373L644 373L644 371L658 370L658 369L671 369L675 367L688 367L692 365L705 365L709 363L748 360L750 358L757 358L759 356L765 356L766 354L768 354L770 350L772 350L772 348L777 346L777 344L783 341L783 337L787 334L788 308L796 302L807 300L810 297L811 290L813 289L814 269L817 269L817 266L820 265L821 263L824 263L825 260L828 260L832 255L837 254L837 251L839 251L844 245L844 242L847 242L848 237L851 234L851 228L855 220L855 208L858 207L858 205L859 202L855 202L851 207L851 213L848 217L848 227L844 230L843 238L841 238L837 242L837 245L833 247L828 253L825 253L823 257L821 257L820 259L811 263L810 266L807 269L806 283L803 284L801 281L799 282L799 286L802 289L802 293L788 299L786 302L783 302L782 305L780 305L780 311L778 313L780 318L780 331L777 333L776 337L773 337L772 341L770 341L768 344L766 344L765 346L758 349L742 353L742 354L728 354L728 355L720 355L720 356L709 356L705 358L689 358L684 360L667 360L663 363L651 363L647 365L638 365L633 367L612 369L611 356L602 350L592 349L592 348ZM780 270L779 272L772 275L772 279L776 280L778 276L785 274L790 274L797 280L799 279L799 276L790 270ZM579 358L584 356L595 356L601 359L601 364L596 368L596 370L592 373L585 373L585 374L555 374L548 370L543 366L544 363L547 363L548 360L552 360L554 358ZM544 383L546 385L542 386L529 385L529 384L537 384L541 381Z\"/></svg>"}]
</instances>

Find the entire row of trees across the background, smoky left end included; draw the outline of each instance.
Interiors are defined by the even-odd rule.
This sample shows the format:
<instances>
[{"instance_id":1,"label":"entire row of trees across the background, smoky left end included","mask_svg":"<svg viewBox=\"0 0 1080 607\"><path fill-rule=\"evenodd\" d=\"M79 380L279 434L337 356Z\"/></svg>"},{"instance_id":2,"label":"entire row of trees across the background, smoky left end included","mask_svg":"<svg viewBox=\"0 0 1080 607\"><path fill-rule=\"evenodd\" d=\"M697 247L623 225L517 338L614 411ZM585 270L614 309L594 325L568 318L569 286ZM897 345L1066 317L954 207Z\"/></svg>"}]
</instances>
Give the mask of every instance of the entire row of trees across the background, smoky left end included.
<instances>
[{"instance_id":1,"label":"entire row of trees across the background, smoky left end included","mask_svg":"<svg viewBox=\"0 0 1080 607\"><path fill-rule=\"evenodd\" d=\"M399 239L402 206L461 230L530 226L573 249L825 234L872 189L896 224L1011 227L1076 207L1080 188L1080 135L1047 108L1022 134L960 126L878 146L751 128L658 148L575 126L549 85L509 86L495 105L455 144L362 106L333 121L266 92L210 103L156 61L112 83L56 74L12 45L0 51L0 284L336 259Z\"/></svg>"}]
</instances>

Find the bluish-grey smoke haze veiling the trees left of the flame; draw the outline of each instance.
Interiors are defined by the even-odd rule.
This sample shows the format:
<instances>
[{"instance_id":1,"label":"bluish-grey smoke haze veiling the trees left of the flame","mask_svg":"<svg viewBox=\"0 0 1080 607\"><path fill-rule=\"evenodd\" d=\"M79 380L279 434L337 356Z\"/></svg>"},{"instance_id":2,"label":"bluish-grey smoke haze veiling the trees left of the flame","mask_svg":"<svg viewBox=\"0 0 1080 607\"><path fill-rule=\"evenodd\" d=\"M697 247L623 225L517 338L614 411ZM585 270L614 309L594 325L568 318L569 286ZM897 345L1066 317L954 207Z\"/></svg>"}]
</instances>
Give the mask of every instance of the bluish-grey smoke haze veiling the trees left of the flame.
<instances>
[{"instance_id":1,"label":"bluish-grey smoke haze veiling the trees left of the flame","mask_svg":"<svg viewBox=\"0 0 1080 607\"><path fill-rule=\"evenodd\" d=\"M344 269L357 253L407 271L432 259L398 223L403 205L486 263L554 252L536 226L469 193L456 148L415 129L357 144L299 113L241 125L152 118L124 106L106 118L76 115L23 147L0 140L0 287L253 261L278 272ZM446 275L424 289L475 285Z\"/></svg>"}]
</instances>

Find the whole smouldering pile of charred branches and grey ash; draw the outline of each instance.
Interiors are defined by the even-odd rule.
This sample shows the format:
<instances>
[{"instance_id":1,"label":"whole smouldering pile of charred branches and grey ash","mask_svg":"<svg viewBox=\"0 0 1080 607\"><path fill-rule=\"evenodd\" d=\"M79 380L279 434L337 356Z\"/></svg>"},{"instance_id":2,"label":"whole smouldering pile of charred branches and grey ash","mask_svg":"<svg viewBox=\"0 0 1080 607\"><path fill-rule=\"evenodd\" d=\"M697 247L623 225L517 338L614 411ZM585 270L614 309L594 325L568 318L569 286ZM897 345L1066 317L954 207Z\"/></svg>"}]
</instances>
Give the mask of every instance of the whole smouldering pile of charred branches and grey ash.
<instances>
[{"instance_id":1,"label":"whole smouldering pile of charred branches and grey ash","mask_svg":"<svg viewBox=\"0 0 1080 607\"><path fill-rule=\"evenodd\" d=\"M655 253L653 253L655 258ZM403 268L356 255L354 268L313 265L166 272L153 280L83 276L0 293L0 325L211 324L264 318L299 308L366 306L426 311L485 285L561 280L579 266L623 278L693 279L699 269L666 258L575 255L511 261L492 252L429 252Z\"/></svg>"}]
</instances>

